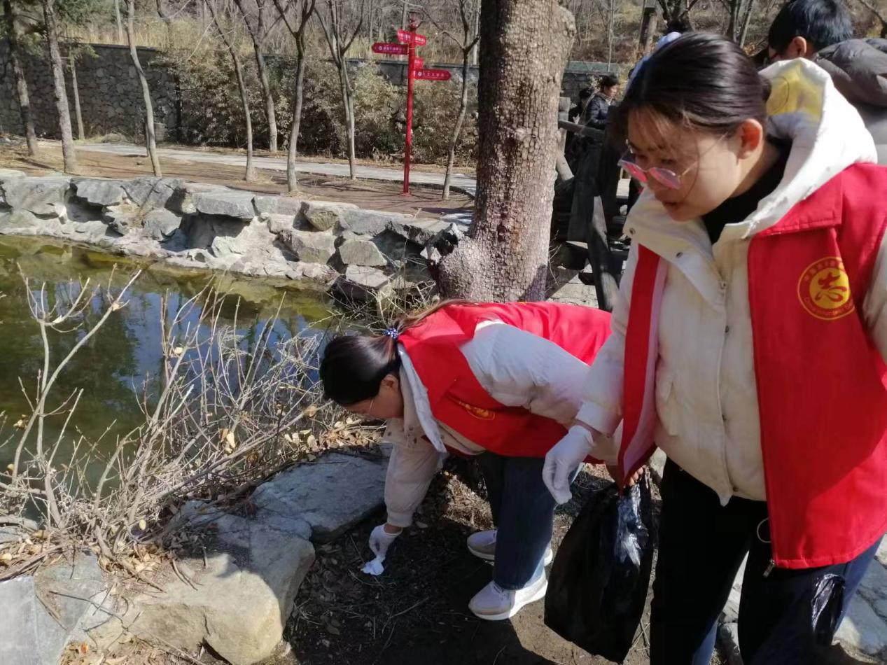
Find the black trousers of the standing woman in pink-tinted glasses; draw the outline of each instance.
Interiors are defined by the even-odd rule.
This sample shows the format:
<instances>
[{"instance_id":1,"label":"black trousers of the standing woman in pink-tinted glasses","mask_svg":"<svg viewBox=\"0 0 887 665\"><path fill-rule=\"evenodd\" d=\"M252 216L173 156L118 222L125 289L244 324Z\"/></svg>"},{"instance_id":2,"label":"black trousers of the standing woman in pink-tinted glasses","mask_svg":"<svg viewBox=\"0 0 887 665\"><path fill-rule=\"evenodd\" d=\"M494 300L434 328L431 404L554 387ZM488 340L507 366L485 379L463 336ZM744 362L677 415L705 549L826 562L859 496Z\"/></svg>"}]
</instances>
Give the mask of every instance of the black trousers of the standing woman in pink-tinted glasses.
<instances>
[{"instance_id":1,"label":"black trousers of the standing woman in pink-tinted glasses","mask_svg":"<svg viewBox=\"0 0 887 665\"><path fill-rule=\"evenodd\" d=\"M843 578L836 609L843 616L877 542L844 564L802 570L771 569L766 503L733 498L722 506L714 491L675 463L665 465L659 559L650 619L652 665L708 665L718 617L742 559L739 643L746 665L815 665L822 653L811 630L812 596L824 575Z\"/></svg>"}]
</instances>

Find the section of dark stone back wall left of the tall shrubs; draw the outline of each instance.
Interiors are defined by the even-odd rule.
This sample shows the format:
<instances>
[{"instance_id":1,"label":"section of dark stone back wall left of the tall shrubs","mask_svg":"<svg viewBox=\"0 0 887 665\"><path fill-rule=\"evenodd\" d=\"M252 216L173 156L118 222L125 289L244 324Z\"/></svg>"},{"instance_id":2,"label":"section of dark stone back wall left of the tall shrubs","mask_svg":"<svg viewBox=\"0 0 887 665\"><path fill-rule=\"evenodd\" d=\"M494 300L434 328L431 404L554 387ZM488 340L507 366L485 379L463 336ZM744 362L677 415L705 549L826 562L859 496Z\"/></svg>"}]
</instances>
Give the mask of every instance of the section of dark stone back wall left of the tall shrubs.
<instances>
[{"instance_id":1,"label":"section of dark stone back wall left of the tall shrubs","mask_svg":"<svg viewBox=\"0 0 887 665\"><path fill-rule=\"evenodd\" d=\"M136 67L125 46L94 45L93 53L77 62L77 83L80 90L80 106L83 127L87 136L120 133L127 137L143 134L142 89ZM178 95L176 80L164 66L154 60L161 54L154 49L138 49L139 60L145 68L154 106L154 121L158 124L159 138L164 135L175 138L178 126ZM24 62L31 109L35 129L41 137L58 137L55 98L52 88L52 70L48 55L27 54ZM6 42L0 41L0 128L21 134L21 118L18 99L12 82L12 67ZM74 95L71 89L71 73L66 71L68 102L71 108L71 127L75 137L77 124L74 111Z\"/></svg>"}]
</instances>

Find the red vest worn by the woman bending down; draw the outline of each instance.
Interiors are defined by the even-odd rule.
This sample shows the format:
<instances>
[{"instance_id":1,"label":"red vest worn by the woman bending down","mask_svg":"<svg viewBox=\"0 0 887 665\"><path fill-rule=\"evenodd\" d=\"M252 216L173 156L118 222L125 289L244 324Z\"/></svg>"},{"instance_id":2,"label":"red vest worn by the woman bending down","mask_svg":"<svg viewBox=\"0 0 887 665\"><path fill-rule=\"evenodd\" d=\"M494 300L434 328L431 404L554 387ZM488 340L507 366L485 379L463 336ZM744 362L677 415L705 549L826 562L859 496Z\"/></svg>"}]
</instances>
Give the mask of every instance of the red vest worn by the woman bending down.
<instances>
[{"instance_id":1,"label":"red vest worn by the woman bending down","mask_svg":"<svg viewBox=\"0 0 887 665\"><path fill-rule=\"evenodd\" d=\"M590 364L609 334L608 312L553 302L450 305L398 338L428 390L434 417L484 450L506 457L545 457L566 429L552 419L494 400L459 350L486 320L499 320L552 341Z\"/></svg>"}]
</instances>

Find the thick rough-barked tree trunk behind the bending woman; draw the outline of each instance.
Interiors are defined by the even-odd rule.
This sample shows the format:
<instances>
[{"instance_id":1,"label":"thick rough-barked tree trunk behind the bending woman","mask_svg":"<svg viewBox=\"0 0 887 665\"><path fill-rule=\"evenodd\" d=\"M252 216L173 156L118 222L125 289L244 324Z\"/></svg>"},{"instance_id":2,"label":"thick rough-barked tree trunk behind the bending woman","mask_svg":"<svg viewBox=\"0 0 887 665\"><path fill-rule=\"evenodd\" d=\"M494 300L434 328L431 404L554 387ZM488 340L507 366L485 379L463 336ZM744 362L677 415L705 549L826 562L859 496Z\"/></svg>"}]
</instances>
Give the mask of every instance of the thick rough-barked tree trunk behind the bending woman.
<instances>
[{"instance_id":1,"label":"thick rough-barked tree trunk behind the bending woman","mask_svg":"<svg viewBox=\"0 0 887 665\"><path fill-rule=\"evenodd\" d=\"M576 26L556 0L483 0L475 219L443 257L451 297L541 300L561 75Z\"/></svg>"}]
</instances>

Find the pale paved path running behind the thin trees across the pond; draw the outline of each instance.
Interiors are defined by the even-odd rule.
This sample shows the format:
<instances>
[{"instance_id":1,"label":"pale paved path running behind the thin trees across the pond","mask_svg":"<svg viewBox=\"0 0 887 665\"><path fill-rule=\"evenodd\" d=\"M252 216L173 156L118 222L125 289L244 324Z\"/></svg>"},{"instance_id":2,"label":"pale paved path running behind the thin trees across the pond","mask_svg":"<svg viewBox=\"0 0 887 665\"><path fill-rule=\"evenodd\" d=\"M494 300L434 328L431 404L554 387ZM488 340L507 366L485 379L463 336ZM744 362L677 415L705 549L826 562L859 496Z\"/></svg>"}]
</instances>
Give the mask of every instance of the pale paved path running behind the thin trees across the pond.
<instances>
[{"instance_id":1,"label":"pale paved path running behind the thin trees across the pond","mask_svg":"<svg viewBox=\"0 0 887 665\"><path fill-rule=\"evenodd\" d=\"M86 143L78 144L78 150L90 153L111 153L122 156L145 156L145 148L139 145L119 143ZM241 154L206 153L200 150L185 150L181 148L158 148L161 158L168 160L203 161L209 164L226 164L246 168L247 156ZM255 157L256 168L267 168L274 171L287 170L286 157ZM338 164L324 161L297 161L295 169L299 173L316 173L322 176L348 177L348 164ZM386 168L377 166L357 166L357 177L367 180L389 180L403 182L404 171L402 168ZM412 184L436 184L443 187L443 173L427 173L425 171L412 171L410 174ZM454 188L459 188L470 196L475 196L477 183L472 176L454 173L451 178Z\"/></svg>"}]
</instances>

